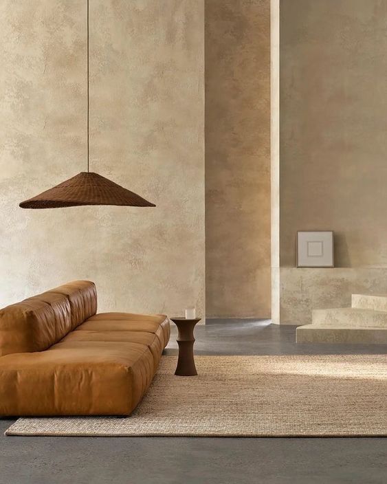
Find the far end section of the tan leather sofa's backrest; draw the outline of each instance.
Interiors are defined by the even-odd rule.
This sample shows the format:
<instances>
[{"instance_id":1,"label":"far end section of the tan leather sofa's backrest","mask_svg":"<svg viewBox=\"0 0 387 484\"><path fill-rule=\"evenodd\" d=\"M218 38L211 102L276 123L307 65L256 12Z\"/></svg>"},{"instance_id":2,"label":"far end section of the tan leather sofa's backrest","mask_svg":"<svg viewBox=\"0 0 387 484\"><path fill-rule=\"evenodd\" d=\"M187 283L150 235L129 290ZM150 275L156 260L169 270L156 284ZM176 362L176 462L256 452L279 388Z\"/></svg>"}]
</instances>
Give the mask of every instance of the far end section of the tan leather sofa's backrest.
<instances>
[{"instance_id":1,"label":"far end section of the tan leather sofa's backrest","mask_svg":"<svg viewBox=\"0 0 387 484\"><path fill-rule=\"evenodd\" d=\"M71 308L71 330L97 312L97 289L91 281L73 281L49 292L68 298Z\"/></svg>"}]
</instances>

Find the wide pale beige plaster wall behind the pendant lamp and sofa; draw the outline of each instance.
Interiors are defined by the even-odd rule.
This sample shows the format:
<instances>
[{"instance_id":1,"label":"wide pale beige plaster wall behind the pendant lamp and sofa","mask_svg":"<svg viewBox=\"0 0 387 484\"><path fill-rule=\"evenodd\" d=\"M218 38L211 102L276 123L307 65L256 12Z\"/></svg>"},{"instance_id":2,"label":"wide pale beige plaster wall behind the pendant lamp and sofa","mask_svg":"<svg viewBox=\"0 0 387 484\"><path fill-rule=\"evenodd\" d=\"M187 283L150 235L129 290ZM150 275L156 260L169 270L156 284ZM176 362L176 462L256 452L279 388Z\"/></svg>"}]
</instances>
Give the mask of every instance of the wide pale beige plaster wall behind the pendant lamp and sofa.
<instances>
[{"instance_id":1,"label":"wide pale beige plaster wall behind the pendant lamp and sofa","mask_svg":"<svg viewBox=\"0 0 387 484\"><path fill-rule=\"evenodd\" d=\"M86 168L85 6L0 3L0 305L89 278L100 310L203 315L203 0L90 2L91 170L157 208L18 207Z\"/></svg>"}]
</instances>

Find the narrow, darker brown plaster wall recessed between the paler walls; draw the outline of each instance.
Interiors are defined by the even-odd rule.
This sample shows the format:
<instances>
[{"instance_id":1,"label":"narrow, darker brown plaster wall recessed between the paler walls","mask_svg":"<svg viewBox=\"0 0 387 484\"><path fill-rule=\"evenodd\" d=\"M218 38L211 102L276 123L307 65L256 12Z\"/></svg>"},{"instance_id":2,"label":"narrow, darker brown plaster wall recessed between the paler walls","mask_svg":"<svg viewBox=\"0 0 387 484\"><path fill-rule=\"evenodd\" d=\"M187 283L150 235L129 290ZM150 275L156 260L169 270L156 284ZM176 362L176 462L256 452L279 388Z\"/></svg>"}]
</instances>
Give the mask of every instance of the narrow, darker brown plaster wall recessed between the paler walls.
<instances>
[{"instance_id":1,"label":"narrow, darker brown plaster wall recessed between the paler walls","mask_svg":"<svg viewBox=\"0 0 387 484\"><path fill-rule=\"evenodd\" d=\"M206 300L270 314L269 0L206 0Z\"/></svg>"}]
</instances>

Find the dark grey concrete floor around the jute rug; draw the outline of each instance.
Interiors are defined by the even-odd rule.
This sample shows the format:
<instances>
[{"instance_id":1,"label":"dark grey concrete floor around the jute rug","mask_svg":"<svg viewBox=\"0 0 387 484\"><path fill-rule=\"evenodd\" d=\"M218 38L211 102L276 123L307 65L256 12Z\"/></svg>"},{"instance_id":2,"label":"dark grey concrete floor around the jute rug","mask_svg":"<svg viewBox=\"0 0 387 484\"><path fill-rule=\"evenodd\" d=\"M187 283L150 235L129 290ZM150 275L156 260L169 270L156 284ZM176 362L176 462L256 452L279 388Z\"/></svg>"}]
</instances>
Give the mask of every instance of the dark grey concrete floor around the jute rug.
<instances>
[{"instance_id":1,"label":"dark grey concrete floor around the jute rug","mask_svg":"<svg viewBox=\"0 0 387 484\"><path fill-rule=\"evenodd\" d=\"M212 320L197 354L387 353L387 346L294 343L295 327ZM176 354L173 329L166 354ZM13 422L0 420L0 432ZM386 484L387 441L173 437L0 437L0 484Z\"/></svg>"}]
</instances>

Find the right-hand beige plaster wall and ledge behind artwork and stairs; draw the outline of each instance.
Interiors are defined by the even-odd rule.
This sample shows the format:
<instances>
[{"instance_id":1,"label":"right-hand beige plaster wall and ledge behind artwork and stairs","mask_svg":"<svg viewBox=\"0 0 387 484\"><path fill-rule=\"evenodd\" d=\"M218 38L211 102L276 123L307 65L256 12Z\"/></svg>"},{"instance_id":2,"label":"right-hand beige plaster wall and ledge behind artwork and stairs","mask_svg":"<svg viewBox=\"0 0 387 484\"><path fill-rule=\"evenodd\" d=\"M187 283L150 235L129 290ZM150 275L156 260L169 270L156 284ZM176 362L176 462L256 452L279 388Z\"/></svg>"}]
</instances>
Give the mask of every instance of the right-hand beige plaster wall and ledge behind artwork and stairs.
<instances>
[{"instance_id":1,"label":"right-hand beige plaster wall and ledge behind artwork and stairs","mask_svg":"<svg viewBox=\"0 0 387 484\"><path fill-rule=\"evenodd\" d=\"M280 2L280 320L386 292L386 0ZM333 270L296 270L334 230Z\"/></svg>"}]
</instances>

